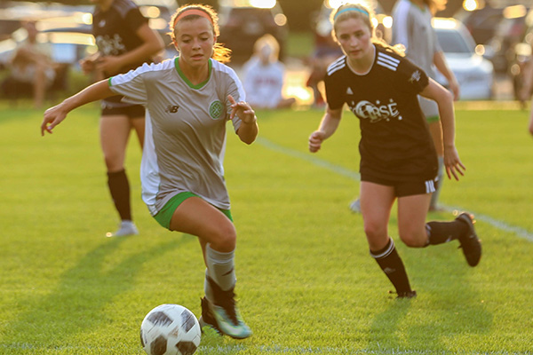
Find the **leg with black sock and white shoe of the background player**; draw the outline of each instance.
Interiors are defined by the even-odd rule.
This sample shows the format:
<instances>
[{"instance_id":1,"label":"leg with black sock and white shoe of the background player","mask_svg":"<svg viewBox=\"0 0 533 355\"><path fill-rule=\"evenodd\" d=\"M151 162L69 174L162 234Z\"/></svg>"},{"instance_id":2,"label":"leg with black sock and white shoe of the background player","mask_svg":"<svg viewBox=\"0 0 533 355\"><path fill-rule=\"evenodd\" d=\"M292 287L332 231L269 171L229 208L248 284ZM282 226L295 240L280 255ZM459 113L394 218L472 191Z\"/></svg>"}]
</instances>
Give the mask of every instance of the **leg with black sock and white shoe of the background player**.
<instances>
[{"instance_id":1,"label":"leg with black sock and white shoe of the background player","mask_svg":"<svg viewBox=\"0 0 533 355\"><path fill-rule=\"evenodd\" d=\"M130 182L124 169L130 130L130 119L126 114L102 114L100 118L100 145L107 168L107 186L121 218L119 229L107 236L139 233L131 218Z\"/></svg>"}]
</instances>

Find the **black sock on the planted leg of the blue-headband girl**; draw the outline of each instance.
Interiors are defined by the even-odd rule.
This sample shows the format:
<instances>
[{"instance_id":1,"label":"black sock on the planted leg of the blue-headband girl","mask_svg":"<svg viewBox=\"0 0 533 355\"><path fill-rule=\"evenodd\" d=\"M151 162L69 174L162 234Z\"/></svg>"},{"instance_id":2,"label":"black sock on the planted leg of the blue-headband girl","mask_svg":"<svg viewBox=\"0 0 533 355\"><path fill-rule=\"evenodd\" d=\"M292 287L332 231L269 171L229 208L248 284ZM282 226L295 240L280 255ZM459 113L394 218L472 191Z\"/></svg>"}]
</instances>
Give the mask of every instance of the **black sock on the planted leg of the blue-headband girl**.
<instances>
[{"instance_id":1,"label":"black sock on the planted leg of the blue-headband girl","mask_svg":"<svg viewBox=\"0 0 533 355\"><path fill-rule=\"evenodd\" d=\"M411 291L409 278L407 277L407 272L405 272L402 258L398 255L392 239L389 238L389 242L385 248L378 251L370 250L370 256L376 259L381 270L391 280L398 296L405 295Z\"/></svg>"}]
</instances>

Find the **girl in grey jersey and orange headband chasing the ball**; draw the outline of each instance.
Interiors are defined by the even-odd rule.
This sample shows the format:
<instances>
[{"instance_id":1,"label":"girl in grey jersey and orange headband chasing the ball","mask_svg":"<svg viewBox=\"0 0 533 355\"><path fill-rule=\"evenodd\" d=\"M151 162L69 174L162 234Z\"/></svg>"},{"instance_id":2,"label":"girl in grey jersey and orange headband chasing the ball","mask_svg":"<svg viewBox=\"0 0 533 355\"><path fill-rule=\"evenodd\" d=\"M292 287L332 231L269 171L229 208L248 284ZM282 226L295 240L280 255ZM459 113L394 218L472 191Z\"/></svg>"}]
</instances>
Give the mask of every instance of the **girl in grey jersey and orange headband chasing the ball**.
<instances>
[{"instance_id":1,"label":"girl in grey jersey and orange headband chasing the ball","mask_svg":"<svg viewBox=\"0 0 533 355\"><path fill-rule=\"evenodd\" d=\"M222 162L227 121L251 144L257 117L235 72L220 62L229 51L217 43L216 12L200 4L182 6L171 28L179 57L91 85L48 109L41 132L52 133L74 108L117 93L146 106L143 200L159 224L200 241L207 266L202 326L242 339L251 329L235 304L236 232Z\"/></svg>"}]
</instances>

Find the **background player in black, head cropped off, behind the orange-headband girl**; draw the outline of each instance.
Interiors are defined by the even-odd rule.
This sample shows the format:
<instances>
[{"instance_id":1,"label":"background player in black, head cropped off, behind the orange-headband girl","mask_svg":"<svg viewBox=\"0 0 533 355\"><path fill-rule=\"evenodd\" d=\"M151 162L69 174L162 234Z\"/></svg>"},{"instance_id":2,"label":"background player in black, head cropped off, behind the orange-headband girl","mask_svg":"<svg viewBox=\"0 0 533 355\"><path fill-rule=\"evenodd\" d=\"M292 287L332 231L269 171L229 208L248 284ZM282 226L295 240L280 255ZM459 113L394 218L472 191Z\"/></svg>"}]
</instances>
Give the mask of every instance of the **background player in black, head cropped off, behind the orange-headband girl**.
<instances>
[{"instance_id":1,"label":"background player in black, head cropped off, behind the orange-headband girl","mask_svg":"<svg viewBox=\"0 0 533 355\"><path fill-rule=\"evenodd\" d=\"M92 35L99 51L83 59L81 66L95 79L126 73L144 62L151 62L163 50L163 40L131 0L91 0L96 4L92 15ZM130 184L124 170L126 146L131 129L144 143L145 109L121 102L122 96L102 100L100 142L107 167L107 185L115 202L121 224L107 236L137 234L131 217Z\"/></svg>"}]
</instances>

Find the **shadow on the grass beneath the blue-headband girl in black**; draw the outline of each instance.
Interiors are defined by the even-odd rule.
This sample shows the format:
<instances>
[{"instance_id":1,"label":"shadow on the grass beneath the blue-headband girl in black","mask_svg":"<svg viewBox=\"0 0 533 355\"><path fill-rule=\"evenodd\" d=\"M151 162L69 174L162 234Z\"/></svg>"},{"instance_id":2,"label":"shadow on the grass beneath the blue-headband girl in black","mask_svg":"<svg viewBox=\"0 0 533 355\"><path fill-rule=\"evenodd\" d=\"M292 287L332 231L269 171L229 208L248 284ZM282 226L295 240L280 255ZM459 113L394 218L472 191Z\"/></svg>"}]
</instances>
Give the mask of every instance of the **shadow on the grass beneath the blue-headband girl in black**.
<instances>
[{"instance_id":1,"label":"shadow on the grass beneath the blue-headband girl in black","mask_svg":"<svg viewBox=\"0 0 533 355\"><path fill-rule=\"evenodd\" d=\"M446 252L443 254L446 255ZM460 339L489 333L493 315L487 311L481 296L468 280L467 274L471 269L463 260L460 260L461 263L445 264L438 261L434 264L435 261L437 260L432 257L421 257L418 258L418 270L411 267L413 274L420 270L426 271L424 277L420 278L418 275L417 278L418 297L395 299L384 312L374 317L367 351L476 351L475 342L469 343ZM440 266L445 268L445 271L440 270ZM433 272L427 272L431 270ZM435 272L440 273L440 283L434 280ZM454 338L457 341L450 342L450 339ZM450 343L454 344L451 349ZM461 344L473 348L461 349Z\"/></svg>"}]
</instances>

